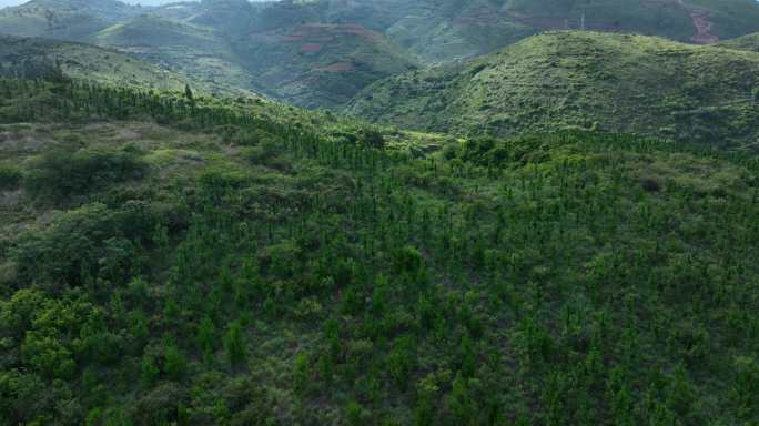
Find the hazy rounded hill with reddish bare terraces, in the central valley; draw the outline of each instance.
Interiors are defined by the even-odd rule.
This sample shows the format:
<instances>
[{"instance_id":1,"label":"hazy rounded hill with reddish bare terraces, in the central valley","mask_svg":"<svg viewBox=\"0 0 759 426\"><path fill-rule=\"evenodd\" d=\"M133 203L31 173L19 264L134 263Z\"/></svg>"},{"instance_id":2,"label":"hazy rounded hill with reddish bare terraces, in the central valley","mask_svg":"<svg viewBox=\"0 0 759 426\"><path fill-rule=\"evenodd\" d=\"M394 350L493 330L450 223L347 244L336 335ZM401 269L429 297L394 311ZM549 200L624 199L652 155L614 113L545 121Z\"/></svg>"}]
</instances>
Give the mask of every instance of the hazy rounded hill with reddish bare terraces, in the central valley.
<instances>
[{"instance_id":1,"label":"hazy rounded hill with reddish bare terraces, in the central valley","mask_svg":"<svg viewBox=\"0 0 759 426\"><path fill-rule=\"evenodd\" d=\"M376 80L416 69L394 42L357 24L254 32L234 51L259 87L306 108L337 108Z\"/></svg>"}]
</instances>

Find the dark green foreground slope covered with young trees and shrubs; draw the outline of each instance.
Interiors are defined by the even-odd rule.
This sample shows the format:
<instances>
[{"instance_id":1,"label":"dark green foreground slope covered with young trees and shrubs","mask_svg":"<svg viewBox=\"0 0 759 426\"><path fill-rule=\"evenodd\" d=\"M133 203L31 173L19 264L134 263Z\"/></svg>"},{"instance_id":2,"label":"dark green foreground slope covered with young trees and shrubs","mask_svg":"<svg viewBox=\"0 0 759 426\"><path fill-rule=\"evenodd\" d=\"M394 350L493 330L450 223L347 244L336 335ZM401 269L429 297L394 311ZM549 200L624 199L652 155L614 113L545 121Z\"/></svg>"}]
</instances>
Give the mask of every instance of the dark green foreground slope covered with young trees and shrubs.
<instances>
[{"instance_id":1,"label":"dark green foreground slope covered with young trees and shrubs","mask_svg":"<svg viewBox=\"0 0 759 426\"><path fill-rule=\"evenodd\" d=\"M759 420L749 153L0 93L7 424Z\"/></svg>"}]
</instances>

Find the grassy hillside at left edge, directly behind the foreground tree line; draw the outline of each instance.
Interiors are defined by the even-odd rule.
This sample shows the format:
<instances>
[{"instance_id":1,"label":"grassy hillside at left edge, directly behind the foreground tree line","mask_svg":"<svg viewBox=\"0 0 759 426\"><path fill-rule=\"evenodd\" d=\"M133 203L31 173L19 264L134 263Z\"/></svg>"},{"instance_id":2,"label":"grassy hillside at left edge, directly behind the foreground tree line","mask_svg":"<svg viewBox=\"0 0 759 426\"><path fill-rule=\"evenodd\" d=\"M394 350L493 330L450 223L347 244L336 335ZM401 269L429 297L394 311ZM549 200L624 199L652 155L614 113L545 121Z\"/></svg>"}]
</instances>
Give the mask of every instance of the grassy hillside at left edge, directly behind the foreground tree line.
<instances>
[{"instance_id":1,"label":"grassy hillside at left edge, directly behind the foreground tree line","mask_svg":"<svg viewBox=\"0 0 759 426\"><path fill-rule=\"evenodd\" d=\"M210 92L209 88L185 75L115 50L82 43L0 36L0 75L31 79L59 72L71 79L108 85L180 91L190 83L201 92Z\"/></svg>"}]
</instances>

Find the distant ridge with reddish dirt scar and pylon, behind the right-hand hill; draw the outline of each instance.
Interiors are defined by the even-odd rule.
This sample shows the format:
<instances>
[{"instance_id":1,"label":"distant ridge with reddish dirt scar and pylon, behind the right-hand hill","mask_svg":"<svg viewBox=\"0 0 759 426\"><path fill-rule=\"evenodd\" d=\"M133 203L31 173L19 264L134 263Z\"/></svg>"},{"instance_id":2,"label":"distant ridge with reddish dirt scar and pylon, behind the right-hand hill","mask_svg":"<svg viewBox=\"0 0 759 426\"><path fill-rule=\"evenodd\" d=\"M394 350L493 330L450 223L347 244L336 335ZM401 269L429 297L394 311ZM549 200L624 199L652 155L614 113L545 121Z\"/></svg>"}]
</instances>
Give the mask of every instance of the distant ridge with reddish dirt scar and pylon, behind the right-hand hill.
<instances>
[{"instance_id":1,"label":"distant ridge with reddish dirt scar and pylon, behind the right-hand hill","mask_svg":"<svg viewBox=\"0 0 759 426\"><path fill-rule=\"evenodd\" d=\"M759 30L753 0L416 1L387 33L428 62L490 53L553 29L637 32L709 43Z\"/></svg>"}]
</instances>

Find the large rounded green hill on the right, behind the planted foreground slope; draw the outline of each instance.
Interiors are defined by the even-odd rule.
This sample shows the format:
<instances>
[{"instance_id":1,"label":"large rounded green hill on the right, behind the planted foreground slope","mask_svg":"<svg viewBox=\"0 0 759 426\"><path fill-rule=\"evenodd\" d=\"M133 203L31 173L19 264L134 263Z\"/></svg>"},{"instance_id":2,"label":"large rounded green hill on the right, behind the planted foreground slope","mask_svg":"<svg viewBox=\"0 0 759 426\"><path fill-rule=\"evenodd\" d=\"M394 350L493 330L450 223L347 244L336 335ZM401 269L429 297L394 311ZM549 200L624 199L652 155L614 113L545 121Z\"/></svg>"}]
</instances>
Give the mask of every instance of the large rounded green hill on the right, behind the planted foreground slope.
<instances>
[{"instance_id":1,"label":"large rounded green hill on the right, behind the planted foreground slope","mask_svg":"<svg viewBox=\"0 0 759 426\"><path fill-rule=\"evenodd\" d=\"M758 71L753 52L555 31L467 64L380 81L346 111L427 130L594 128L749 146L759 138Z\"/></svg>"}]
</instances>

